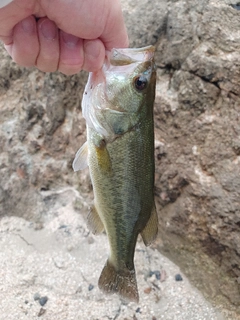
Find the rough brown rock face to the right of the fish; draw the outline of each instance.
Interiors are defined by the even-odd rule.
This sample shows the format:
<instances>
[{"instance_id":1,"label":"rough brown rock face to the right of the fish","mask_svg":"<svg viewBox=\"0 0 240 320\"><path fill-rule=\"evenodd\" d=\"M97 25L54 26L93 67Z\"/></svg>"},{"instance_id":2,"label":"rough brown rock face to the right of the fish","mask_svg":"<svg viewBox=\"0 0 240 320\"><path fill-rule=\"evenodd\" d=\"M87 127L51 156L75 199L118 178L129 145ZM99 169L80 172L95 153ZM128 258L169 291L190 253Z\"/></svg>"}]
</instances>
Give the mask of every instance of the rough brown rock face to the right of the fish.
<instances>
[{"instance_id":1,"label":"rough brown rock face to the right of the fish","mask_svg":"<svg viewBox=\"0 0 240 320\"><path fill-rule=\"evenodd\" d=\"M215 285L204 285L207 294L218 301L225 296L239 309L240 13L221 1L195 4L171 4L158 46L156 193L163 250L172 248L185 267L192 260L192 270L204 269L189 271L194 277L212 274L208 281ZM184 30L180 38L176 21ZM189 250L197 254L186 254L185 262L177 251ZM213 266L199 268L206 256L214 273Z\"/></svg>"}]
</instances>

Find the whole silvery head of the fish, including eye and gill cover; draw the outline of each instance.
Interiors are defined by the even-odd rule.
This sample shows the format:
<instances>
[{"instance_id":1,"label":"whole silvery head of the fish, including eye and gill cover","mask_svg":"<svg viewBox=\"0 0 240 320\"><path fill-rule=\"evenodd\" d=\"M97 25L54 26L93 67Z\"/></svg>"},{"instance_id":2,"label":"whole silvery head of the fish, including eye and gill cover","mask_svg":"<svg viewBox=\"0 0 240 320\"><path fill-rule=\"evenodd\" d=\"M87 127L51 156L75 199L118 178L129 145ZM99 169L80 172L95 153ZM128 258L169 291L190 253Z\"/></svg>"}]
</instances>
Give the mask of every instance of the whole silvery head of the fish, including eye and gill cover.
<instances>
[{"instance_id":1,"label":"whole silvery head of the fish, including eye and gill cover","mask_svg":"<svg viewBox=\"0 0 240 320\"><path fill-rule=\"evenodd\" d=\"M154 47L113 49L91 73L82 103L87 125L105 139L124 134L152 116L156 66Z\"/></svg>"}]
</instances>

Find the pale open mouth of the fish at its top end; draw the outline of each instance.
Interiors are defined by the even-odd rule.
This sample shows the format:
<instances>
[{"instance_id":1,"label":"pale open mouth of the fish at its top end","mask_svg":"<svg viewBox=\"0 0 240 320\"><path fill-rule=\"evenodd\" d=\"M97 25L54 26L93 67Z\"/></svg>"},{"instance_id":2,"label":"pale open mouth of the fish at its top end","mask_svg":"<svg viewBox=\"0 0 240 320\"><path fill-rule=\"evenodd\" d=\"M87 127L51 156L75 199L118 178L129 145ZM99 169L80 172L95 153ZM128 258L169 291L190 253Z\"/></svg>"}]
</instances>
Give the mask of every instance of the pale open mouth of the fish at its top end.
<instances>
[{"instance_id":1,"label":"pale open mouth of the fish at its top end","mask_svg":"<svg viewBox=\"0 0 240 320\"><path fill-rule=\"evenodd\" d=\"M113 66L124 66L136 62L152 61L155 47L112 49L107 52L107 58Z\"/></svg>"}]
</instances>

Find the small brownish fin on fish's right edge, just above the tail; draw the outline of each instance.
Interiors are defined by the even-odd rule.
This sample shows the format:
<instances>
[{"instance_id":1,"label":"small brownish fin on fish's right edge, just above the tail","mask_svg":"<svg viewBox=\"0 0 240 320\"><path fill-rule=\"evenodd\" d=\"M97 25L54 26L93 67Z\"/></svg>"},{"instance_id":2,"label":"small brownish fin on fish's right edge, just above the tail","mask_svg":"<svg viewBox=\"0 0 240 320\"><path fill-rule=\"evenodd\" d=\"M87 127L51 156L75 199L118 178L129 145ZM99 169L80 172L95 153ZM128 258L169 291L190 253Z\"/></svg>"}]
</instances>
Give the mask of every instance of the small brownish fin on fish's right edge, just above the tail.
<instances>
[{"instance_id":1,"label":"small brownish fin on fish's right edge, just above the tail","mask_svg":"<svg viewBox=\"0 0 240 320\"><path fill-rule=\"evenodd\" d=\"M157 237L158 233L158 217L155 204L153 205L151 216L141 232L141 236L145 246L149 246Z\"/></svg>"}]
</instances>

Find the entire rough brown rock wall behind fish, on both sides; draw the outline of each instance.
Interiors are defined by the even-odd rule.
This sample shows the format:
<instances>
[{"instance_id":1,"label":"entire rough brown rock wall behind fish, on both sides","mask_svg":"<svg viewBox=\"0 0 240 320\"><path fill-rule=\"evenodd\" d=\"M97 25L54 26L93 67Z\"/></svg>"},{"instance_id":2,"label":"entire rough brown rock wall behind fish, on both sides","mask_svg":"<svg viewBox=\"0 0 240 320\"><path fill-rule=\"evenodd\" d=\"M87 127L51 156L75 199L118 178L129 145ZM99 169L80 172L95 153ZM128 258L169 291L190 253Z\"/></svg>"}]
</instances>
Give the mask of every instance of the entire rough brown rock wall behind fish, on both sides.
<instances>
[{"instance_id":1,"label":"entire rough brown rock wall behind fish, on both sides","mask_svg":"<svg viewBox=\"0 0 240 320\"><path fill-rule=\"evenodd\" d=\"M209 299L240 313L237 2L122 3L131 46L157 47L158 248ZM87 75L20 68L3 49L0 61L2 221L18 216L44 226L56 201L65 205L44 192L67 186L81 194L75 208L85 212L89 176L74 174L71 163L85 141L80 102Z\"/></svg>"}]
</instances>

